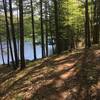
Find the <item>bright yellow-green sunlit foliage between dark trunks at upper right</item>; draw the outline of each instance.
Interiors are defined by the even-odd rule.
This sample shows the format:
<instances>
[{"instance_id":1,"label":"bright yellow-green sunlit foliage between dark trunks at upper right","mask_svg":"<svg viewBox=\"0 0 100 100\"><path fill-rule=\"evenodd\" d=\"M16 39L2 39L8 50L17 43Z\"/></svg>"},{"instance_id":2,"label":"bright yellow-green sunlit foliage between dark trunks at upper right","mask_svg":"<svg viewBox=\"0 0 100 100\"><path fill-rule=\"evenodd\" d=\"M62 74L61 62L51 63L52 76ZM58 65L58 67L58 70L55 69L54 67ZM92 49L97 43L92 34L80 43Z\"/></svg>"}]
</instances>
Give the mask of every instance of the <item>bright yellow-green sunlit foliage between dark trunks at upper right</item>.
<instances>
[{"instance_id":1,"label":"bright yellow-green sunlit foliage between dark trunks at upper right","mask_svg":"<svg viewBox=\"0 0 100 100\"><path fill-rule=\"evenodd\" d=\"M67 34L74 32L76 35L82 35L81 31L84 30L84 13L83 9L79 7L80 2L77 0L62 0L60 5L60 27L63 26Z\"/></svg>"}]
</instances>

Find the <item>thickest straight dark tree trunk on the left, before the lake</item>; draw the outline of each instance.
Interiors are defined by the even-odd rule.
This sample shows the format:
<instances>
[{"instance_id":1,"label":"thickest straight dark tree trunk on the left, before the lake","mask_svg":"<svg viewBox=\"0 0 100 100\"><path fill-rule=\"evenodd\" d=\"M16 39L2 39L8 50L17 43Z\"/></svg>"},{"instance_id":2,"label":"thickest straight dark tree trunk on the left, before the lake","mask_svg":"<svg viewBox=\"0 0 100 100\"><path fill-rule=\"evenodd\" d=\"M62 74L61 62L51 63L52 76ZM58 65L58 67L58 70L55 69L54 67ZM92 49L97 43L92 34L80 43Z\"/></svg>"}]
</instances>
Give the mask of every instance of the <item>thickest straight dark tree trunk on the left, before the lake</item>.
<instances>
[{"instance_id":1,"label":"thickest straight dark tree trunk on the left, before the lake","mask_svg":"<svg viewBox=\"0 0 100 100\"><path fill-rule=\"evenodd\" d=\"M20 59L21 59L21 69L23 69L25 67L23 0L19 0L19 18L20 18Z\"/></svg>"}]
</instances>

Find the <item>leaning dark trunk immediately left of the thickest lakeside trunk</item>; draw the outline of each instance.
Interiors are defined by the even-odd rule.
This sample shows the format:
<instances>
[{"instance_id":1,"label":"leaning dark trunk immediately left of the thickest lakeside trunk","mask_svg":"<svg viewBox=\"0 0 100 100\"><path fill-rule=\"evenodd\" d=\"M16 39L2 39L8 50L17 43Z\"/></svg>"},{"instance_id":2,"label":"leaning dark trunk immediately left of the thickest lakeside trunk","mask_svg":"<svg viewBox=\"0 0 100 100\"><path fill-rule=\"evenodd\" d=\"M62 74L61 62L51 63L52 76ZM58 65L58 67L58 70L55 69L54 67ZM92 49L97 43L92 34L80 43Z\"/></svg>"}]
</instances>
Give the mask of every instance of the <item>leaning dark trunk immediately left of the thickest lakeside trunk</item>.
<instances>
[{"instance_id":1,"label":"leaning dark trunk immediately left of the thickest lakeside trunk","mask_svg":"<svg viewBox=\"0 0 100 100\"><path fill-rule=\"evenodd\" d=\"M16 63L16 68L17 68L19 65L19 60L18 60L18 55L17 55L17 45L16 45L16 37L15 37L15 30L14 30L14 23L13 23L12 0L9 0L9 7L10 7L11 34L12 34L12 39L13 39L14 56L15 56L15 63Z\"/></svg>"}]
</instances>

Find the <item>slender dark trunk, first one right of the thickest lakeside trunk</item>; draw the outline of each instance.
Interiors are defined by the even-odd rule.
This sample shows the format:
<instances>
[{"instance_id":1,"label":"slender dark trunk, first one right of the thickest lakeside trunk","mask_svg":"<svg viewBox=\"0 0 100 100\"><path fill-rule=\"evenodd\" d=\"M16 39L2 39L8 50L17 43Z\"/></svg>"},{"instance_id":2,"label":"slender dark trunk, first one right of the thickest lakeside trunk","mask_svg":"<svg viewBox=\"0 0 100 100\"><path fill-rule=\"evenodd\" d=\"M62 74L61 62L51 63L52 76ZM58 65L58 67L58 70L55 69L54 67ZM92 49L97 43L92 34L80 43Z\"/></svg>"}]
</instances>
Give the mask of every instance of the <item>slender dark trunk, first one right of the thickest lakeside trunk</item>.
<instances>
[{"instance_id":1,"label":"slender dark trunk, first one right of the thickest lakeside trunk","mask_svg":"<svg viewBox=\"0 0 100 100\"><path fill-rule=\"evenodd\" d=\"M36 45L35 45L35 31L34 31L34 10L33 10L33 1L31 0L31 18L32 18L32 35L33 35L33 51L34 51L34 60L36 60Z\"/></svg>"}]
</instances>

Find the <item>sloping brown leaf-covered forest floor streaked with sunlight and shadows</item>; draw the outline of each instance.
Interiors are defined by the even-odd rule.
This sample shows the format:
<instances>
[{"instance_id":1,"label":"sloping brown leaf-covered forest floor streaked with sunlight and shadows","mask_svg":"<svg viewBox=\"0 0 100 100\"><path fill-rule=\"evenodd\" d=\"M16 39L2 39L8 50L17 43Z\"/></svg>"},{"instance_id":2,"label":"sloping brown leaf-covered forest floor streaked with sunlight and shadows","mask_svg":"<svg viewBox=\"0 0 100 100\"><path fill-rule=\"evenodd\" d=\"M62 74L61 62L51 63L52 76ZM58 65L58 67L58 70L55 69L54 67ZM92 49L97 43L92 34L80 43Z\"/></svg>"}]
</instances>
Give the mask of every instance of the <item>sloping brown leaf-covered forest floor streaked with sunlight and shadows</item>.
<instances>
[{"instance_id":1,"label":"sloping brown leaf-covered forest floor streaked with sunlight and shadows","mask_svg":"<svg viewBox=\"0 0 100 100\"><path fill-rule=\"evenodd\" d=\"M100 48L29 62L22 71L0 66L0 100L100 100Z\"/></svg>"}]
</instances>

